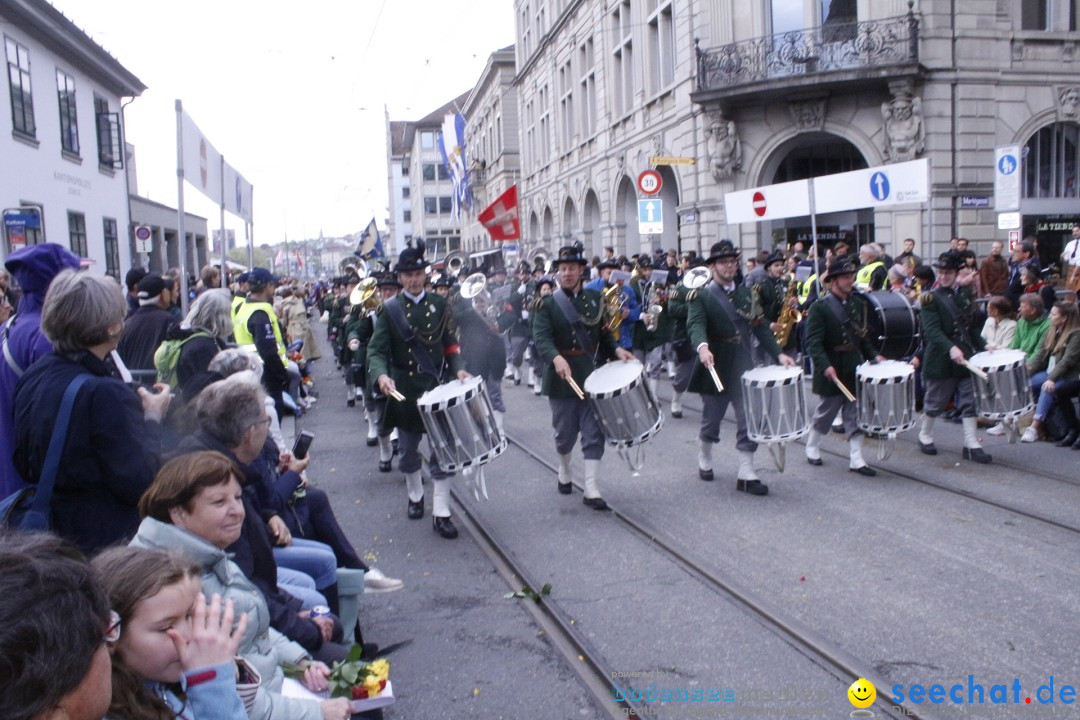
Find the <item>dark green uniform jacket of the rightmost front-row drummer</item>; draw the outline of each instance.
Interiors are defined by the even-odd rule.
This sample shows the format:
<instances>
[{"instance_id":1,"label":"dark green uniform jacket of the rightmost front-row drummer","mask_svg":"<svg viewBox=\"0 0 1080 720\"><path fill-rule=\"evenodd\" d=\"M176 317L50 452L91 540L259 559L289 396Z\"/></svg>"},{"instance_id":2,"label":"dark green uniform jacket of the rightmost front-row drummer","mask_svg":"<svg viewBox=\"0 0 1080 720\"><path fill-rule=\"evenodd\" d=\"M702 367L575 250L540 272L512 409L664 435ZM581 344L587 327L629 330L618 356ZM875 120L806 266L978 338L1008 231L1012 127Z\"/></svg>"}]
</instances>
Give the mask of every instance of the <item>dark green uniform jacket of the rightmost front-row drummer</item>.
<instances>
[{"instance_id":1,"label":"dark green uniform jacket of the rightmost front-row drummer","mask_svg":"<svg viewBox=\"0 0 1080 720\"><path fill-rule=\"evenodd\" d=\"M986 341L974 326L975 298L969 287L962 287L953 293L953 303L959 312L954 318L939 293L947 290L939 288L923 293L919 297L919 318L922 321L922 377L927 380L945 380L947 378L969 378L968 368L957 365L948 356L948 351L956 345L963 351L963 356L971 358L981 352ZM967 334L960 326L967 327Z\"/></svg>"}]
</instances>

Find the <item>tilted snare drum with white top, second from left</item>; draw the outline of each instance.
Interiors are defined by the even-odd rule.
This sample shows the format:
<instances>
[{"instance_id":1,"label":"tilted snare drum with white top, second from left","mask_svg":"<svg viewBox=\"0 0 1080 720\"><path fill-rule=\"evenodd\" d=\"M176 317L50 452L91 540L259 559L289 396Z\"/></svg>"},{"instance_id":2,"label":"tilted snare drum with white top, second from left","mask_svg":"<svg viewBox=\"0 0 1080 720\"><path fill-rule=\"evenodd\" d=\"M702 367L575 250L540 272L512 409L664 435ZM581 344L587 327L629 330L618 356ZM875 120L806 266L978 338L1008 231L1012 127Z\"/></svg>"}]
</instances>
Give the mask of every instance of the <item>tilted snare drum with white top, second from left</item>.
<instances>
[{"instance_id":1,"label":"tilted snare drum with white top, second from left","mask_svg":"<svg viewBox=\"0 0 1080 720\"><path fill-rule=\"evenodd\" d=\"M582 388L608 445L630 448L660 432L664 417L637 361L603 365Z\"/></svg>"}]
</instances>

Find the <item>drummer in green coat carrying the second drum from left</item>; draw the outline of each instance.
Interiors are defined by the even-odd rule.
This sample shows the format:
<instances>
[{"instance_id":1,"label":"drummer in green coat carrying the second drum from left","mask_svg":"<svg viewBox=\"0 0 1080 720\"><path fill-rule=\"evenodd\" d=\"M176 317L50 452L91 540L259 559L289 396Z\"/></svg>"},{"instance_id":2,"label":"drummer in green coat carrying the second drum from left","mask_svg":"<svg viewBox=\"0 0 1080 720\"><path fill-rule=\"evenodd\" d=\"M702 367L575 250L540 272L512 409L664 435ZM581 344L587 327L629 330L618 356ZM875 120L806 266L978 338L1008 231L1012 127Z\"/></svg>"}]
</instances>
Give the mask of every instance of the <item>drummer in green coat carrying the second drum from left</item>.
<instances>
[{"instance_id":1,"label":"drummer in green coat carrying the second drum from left","mask_svg":"<svg viewBox=\"0 0 1080 720\"><path fill-rule=\"evenodd\" d=\"M558 452L558 491L572 491L570 459L581 435L585 457L585 497L582 502L593 510L607 510L600 498L597 477L604 458L604 432L589 403L578 397L578 388L603 361L618 357L633 359L625 348L616 345L604 325L604 301L598 290L584 289L581 276L588 264L581 243L561 247L554 260L558 289L543 298L532 323L532 339L545 363L543 394L551 406L551 424Z\"/></svg>"}]
</instances>

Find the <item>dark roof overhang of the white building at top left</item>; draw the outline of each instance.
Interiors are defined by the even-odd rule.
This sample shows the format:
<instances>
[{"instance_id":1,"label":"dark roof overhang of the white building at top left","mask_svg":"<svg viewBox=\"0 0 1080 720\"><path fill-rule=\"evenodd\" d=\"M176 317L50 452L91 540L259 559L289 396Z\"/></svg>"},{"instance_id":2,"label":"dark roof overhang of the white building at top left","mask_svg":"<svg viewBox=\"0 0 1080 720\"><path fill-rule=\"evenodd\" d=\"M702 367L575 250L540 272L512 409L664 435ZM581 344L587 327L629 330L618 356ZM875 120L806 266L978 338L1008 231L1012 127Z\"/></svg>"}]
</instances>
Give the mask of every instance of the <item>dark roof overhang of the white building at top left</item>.
<instances>
[{"instance_id":1,"label":"dark roof overhang of the white building at top left","mask_svg":"<svg viewBox=\"0 0 1080 720\"><path fill-rule=\"evenodd\" d=\"M4 0L0 14L117 96L136 97L146 90L143 81L120 60L45 0Z\"/></svg>"}]
</instances>

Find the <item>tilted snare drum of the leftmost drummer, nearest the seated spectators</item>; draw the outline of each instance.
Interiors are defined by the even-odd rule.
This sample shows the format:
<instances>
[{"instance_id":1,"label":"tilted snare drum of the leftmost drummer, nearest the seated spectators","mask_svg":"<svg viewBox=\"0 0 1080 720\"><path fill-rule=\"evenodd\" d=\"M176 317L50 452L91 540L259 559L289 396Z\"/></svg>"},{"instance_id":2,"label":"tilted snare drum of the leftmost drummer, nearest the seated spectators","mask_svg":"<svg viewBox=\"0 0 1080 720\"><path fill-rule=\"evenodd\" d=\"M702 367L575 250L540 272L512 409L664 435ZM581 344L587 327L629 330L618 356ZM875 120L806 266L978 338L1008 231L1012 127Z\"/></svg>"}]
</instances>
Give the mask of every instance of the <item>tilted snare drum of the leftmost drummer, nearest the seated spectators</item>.
<instances>
[{"instance_id":1,"label":"tilted snare drum of the leftmost drummer, nearest the seated spectators","mask_svg":"<svg viewBox=\"0 0 1080 720\"><path fill-rule=\"evenodd\" d=\"M416 405L438 466L446 472L483 465L507 449L481 377L429 390Z\"/></svg>"}]
</instances>

